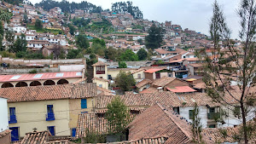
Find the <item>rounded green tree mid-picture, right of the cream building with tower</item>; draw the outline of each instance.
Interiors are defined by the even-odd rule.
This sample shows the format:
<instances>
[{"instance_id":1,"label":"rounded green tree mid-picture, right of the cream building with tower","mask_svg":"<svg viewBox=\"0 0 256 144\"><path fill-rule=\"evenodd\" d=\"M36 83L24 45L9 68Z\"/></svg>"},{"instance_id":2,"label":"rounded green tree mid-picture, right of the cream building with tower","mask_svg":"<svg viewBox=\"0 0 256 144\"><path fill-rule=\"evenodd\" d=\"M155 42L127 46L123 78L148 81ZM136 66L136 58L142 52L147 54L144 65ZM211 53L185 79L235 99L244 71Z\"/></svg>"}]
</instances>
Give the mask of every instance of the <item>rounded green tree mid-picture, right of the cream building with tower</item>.
<instances>
[{"instance_id":1,"label":"rounded green tree mid-picture, right of the cream building with tower","mask_svg":"<svg viewBox=\"0 0 256 144\"><path fill-rule=\"evenodd\" d=\"M116 77L116 84L119 86L120 89L124 91L129 91L132 89L131 87L136 84L136 81L131 75L131 72L119 72Z\"/></svg>"}]
</instances>

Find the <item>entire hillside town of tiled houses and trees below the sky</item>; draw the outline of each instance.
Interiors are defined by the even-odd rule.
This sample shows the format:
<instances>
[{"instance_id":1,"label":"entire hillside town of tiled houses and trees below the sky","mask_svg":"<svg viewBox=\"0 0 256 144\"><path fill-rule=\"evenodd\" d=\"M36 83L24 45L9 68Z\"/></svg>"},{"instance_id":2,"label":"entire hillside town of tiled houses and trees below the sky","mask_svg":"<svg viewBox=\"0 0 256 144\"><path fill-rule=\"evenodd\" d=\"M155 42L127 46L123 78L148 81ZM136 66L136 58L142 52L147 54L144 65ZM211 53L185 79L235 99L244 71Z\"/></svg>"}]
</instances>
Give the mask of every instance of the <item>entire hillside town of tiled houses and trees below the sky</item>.
<instances>
[{"instance_id":1,"label":"entire hillside town of tiled houses and trees below the sky","mask_svg":"<svg viewBox=\"0 0 256 144\"><path fill-rule=\"evenodd\" d=\"M0 2L0 144L256 143L255 41L50 3Z\"/></svg>"}]
</instances>

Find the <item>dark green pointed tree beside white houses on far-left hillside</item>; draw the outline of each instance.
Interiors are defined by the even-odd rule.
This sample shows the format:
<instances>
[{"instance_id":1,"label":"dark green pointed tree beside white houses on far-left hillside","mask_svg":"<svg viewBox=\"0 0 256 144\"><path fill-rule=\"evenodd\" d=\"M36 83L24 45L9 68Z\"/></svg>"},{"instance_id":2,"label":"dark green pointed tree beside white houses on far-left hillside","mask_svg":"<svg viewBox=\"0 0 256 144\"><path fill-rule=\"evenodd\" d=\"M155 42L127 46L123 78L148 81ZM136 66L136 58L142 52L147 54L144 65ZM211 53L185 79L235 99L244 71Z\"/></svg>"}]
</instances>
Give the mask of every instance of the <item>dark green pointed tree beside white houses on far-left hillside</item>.
<instances>
[{"instance_id":1,"label":"dark green pointed tree beside white houses on far-left hillside","mask_svg":"<svg viewBox=\"0 0 256 144\"><path fill-rule=\"evenodd\" d=\"M14 43L13 52L17 53L20 51L26 51L26 36L24 33L22 33L20 37L17 37Z\"/></svg>"}]
</instances>

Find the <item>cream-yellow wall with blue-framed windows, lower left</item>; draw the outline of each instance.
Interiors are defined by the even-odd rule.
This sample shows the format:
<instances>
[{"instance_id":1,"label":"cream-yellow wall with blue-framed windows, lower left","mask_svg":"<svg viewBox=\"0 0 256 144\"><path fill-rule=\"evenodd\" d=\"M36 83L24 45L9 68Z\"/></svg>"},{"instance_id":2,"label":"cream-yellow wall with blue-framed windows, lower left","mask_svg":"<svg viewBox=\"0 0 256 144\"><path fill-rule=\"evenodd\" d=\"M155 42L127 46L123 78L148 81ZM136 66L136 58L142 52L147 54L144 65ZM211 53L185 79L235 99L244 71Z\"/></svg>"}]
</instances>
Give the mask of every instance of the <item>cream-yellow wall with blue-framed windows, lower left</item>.
<instances>
[{"instance_id":1,"label":"cream-yellow wall with blue-framed windows, lower left","mask_svg":"<svg viewBox=\"0 0 256 144\"><path fill-rule=\"evenodd\" d=\"M53 105L55 120L46 121L47 105ZM16 124L9 127L19 127L20 136L37 128L38 131L47 130L47 126L55 126L55 135L71 135L69 124L69 100L29 101L8 103L8 107L15 107Z\"/></svg>"}]
</instances>

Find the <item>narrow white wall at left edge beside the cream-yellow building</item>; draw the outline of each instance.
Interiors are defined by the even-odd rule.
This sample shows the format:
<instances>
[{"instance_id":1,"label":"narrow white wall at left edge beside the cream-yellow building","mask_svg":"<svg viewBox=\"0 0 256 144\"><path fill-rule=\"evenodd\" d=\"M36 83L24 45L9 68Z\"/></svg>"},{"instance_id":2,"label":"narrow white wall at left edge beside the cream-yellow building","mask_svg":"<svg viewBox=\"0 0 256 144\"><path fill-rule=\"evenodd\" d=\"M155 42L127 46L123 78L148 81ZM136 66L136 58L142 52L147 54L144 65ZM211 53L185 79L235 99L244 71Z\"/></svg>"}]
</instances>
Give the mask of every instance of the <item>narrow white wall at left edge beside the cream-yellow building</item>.
<instances>
[{"instance_id":1,"label":"narrow white wall at left edge beside the cream-yellow building","mask_svg":"<svg viewBox=\"0 0 256 144\"><path fill-rule=\"evenodd\" d=\"M0 132L9 129L7 99L0 97Z\"/></svg>"}]
</instances>

